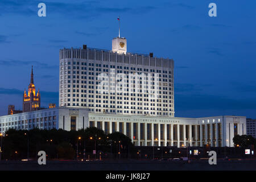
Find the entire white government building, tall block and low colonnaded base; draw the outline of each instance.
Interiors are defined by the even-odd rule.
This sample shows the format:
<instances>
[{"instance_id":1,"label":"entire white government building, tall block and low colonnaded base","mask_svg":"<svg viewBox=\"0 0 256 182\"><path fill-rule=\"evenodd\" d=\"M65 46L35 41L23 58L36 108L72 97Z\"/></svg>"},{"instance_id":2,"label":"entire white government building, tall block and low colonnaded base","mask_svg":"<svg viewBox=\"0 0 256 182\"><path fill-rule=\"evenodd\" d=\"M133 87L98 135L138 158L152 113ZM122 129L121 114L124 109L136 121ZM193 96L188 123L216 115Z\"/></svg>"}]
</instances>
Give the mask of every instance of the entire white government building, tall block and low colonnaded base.
<instances>
[{"instance_id":1,"label":"entire white government building, tall block and low colonnaded base","mask_svg":"<svg viewBox=\"0 0 256 182\"><path fill-rule=\"evenodd\" d=\"M118 37L112 40L112 51L60 49L59 108L2 116L0 132L95 126L107 134L119 131L135 146L177 147L233 147L234 135L246 134L246 117L174 117L174 60L128 53L126 43ZM101 73L109 78L105 93L99 89ZM127 78L121 86L118 75ZM115 92L118 86L124 92Z\"/></svg>"}]
</instances>

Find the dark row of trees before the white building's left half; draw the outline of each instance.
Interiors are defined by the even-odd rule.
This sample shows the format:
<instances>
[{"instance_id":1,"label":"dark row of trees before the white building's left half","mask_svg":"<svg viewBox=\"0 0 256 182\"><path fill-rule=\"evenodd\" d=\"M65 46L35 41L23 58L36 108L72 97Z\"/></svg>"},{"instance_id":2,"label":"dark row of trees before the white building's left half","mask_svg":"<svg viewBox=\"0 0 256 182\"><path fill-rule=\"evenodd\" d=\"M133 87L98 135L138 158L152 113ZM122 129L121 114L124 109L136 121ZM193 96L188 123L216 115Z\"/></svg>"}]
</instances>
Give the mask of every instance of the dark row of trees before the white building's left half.
<instances>
[{"instance_id":1,"label":"dark row of trees before the white building's left half","mask_svg":"<svg viewBox=\"0 0 256 182\"><path fill-rule=\"evenodd\" d=\"M2 159L36 159L42 150L48 159L129 158L134 146L126 135L106 135L96 127L79 131L10 129L2 137Z\"/></svg>"}]
</instances>

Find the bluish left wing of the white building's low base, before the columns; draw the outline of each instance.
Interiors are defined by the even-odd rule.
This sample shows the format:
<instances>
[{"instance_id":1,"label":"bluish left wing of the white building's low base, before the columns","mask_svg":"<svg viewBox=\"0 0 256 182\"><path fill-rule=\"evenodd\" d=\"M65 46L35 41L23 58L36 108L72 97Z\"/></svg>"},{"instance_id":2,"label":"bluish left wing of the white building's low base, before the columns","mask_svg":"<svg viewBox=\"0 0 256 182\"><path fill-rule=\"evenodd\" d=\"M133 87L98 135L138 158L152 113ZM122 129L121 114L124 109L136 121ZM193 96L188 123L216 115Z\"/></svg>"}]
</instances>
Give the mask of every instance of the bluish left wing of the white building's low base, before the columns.
<instances>
[{"instance_id":1,"label":"bluish left wing of the white building's low base, before the columns","mask_svg":"<svg viewBox=\"0 0 256 182\"><path fill-rule=\"evenodd\" d=\"M88 109L59 107L40 109L0 117L0 133L8 129L64 129L78 130L88 127Z\"/></svg>"}]
</instances>

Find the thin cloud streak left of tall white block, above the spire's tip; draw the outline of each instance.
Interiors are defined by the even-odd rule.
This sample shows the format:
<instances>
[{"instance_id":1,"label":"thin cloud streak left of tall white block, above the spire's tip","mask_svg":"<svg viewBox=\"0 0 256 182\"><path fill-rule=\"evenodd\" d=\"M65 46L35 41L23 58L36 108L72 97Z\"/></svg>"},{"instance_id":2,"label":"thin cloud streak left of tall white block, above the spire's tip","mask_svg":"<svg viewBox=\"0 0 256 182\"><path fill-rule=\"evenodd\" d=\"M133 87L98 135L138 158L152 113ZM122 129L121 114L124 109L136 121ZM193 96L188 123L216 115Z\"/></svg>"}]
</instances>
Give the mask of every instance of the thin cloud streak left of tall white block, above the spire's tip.
<instances>
[{"instance_id":1,"label":"thin cloud streak left of tall white block, above the spire's tip","mask_svg":"<svg viewBox=\"0 0 256 182\"><path fill-rule=\"evenodd\" d=\"M0 60L0 65L1 66L6 66L6 67L18 67L22 65L35 65L35 67L39 68L44 68L44 69L56 69L59 68L59 65L49 65L46 63L40 63L39 61L21 61L21 60Z\"/></svg>"}]
</instances>

